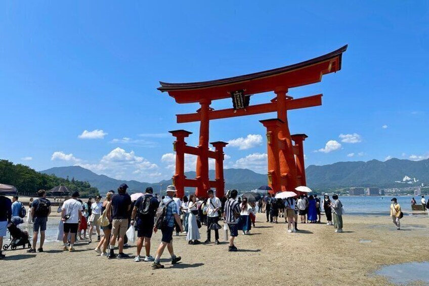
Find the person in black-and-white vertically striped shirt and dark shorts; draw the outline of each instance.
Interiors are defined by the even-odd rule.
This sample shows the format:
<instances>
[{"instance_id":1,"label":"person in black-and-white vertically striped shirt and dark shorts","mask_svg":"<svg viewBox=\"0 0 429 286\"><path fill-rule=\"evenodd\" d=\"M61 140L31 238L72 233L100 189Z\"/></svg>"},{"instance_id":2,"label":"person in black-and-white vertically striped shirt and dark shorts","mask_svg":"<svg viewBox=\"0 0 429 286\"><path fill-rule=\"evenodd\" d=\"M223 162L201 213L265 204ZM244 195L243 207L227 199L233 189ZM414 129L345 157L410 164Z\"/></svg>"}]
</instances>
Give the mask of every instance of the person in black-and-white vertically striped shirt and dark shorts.
<instances>
[{"instance_id":1,"label":"person in black-and-white vertically striped shirt and dark shorts","mask_svg":"<svg viewBox=\"0 0 429 286\"><path fill-rule=\"evenodd\" d=\"M228 251L230 252L238 251L234 244L234 239L238 236L237 220L240 217L241 213L240 205L238 201L235 200L237 198L237 195L237 190L232 190L230 192L229 198L225 203L224 210L224 222L228 225L230 232L228 247Z\"/></svg>"}]
</instances>

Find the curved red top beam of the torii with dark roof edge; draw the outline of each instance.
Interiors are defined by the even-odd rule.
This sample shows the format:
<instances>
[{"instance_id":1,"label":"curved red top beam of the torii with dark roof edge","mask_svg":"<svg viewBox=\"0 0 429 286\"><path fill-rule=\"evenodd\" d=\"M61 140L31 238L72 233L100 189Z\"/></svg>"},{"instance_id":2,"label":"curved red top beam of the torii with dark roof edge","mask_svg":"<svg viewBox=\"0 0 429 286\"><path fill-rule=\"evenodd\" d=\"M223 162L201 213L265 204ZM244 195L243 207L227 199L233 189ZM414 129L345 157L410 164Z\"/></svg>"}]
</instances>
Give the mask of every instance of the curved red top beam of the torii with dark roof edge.
<instances>
[{"instance_id":1,"label":"curved red top beam of the torii with dark roof edge","mask_svg":"<svg viewBox=\"0 0 429 286\"><path fill-rule=\"evenodd\" d=\"M322 75L341 69L342 53L347 46L323 56L304 62L246 75L197 83L164 83L160 81L161 92L168 92L177 103L200 102L202 99L217 100L229 98L231 91L245 90L245 94L274 91L279 87L289 89L318 83Z\"/></svg>"}]
</instances>

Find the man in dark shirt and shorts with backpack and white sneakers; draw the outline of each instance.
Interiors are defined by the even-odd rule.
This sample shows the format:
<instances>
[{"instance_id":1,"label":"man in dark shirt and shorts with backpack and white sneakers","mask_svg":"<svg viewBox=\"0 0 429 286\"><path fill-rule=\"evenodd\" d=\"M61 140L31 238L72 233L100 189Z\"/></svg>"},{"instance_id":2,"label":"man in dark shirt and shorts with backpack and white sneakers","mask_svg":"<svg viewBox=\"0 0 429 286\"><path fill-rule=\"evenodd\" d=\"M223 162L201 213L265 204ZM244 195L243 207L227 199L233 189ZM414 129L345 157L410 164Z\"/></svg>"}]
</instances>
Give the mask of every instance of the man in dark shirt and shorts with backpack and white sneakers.
<instances>
[{"instance_id":1,"label":"man in dark shirt and shorts with backpack and white sneakers","mask_svg":"<svg viewBox=\"0 0 429 286\"><path fill-rule=\"evenodd\" d=\"M140 252L143 247L143 241L145 243L146 256L145 261L154 261L150 255L150 238L152 237L153 226L155 224L155 214L159 206L159 201L153 195L153 189L151 187L146 188L144 196L139 197L133 208L131 214L131 224L135 226L137 230L137 255L134 261L140 261Z\"/></svg>"}]
</instances>

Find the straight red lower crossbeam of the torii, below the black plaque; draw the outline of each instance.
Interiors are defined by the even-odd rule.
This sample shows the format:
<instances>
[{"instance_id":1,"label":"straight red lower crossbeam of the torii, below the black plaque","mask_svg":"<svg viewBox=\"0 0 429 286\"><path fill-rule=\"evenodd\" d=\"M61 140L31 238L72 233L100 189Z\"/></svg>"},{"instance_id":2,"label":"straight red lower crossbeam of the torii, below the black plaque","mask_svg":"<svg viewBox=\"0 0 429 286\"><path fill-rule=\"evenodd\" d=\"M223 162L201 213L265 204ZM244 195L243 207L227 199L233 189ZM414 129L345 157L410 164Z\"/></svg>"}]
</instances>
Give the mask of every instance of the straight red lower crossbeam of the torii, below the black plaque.
<instances>
[{"instance_id":1,"label":"straight red lower crossbeam of the torii, below the black plaque","mask_svg":"<svg viewBox=\"0 0 429 286\"><path fill-rule=\"evenodd\" d=\"M286 109L292 110L322 105L322 96L322 94L318 94L298 99L286 100ZM272 102L251 105L246 108L246 111L244 111L244 109L238 109L235 113L233 108L209 111L208 118L209 120L213 120L275 111L277 111L277 102ZM176 116L178 123L200 121L199 113L177 114Z\"/></svg>"}]
</instances>

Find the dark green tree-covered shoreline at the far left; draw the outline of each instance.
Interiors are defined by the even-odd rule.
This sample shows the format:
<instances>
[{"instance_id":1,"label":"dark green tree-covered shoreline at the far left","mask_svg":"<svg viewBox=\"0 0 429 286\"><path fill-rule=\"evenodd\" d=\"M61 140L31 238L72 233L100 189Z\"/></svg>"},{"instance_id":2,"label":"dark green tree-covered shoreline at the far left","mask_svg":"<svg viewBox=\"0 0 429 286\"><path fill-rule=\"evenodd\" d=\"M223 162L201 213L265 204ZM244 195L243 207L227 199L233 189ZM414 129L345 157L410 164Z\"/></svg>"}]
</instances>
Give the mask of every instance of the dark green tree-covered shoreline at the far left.
<instances>
[{"instance_id":1,"label":"dark green tree-covered shoreline at the far left","mask_svg":"<svg viewBox=\"0 0 429 286\"><path fill-rule=\"evenodd\" d=\"M13 164L0 159L0 184L13 185L20 194L35 194L39 189L49 191L56 186L65 186L70 191L79 191L80 196L95 196L98 189L88 182L72 178L59 178L55 175L41 174L22 164Z\"/></svg>"}]
</instances>

